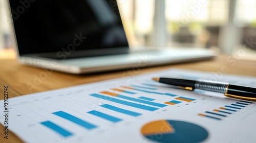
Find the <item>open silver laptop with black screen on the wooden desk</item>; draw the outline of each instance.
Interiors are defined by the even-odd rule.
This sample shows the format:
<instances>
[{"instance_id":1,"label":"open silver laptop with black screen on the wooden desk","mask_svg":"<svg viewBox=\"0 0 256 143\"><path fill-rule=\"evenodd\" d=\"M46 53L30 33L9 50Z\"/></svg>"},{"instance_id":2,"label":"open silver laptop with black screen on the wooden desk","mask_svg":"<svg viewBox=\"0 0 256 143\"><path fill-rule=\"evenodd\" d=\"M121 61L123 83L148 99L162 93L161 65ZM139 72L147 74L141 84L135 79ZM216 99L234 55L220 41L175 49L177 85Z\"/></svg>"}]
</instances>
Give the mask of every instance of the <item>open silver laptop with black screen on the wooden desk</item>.
<instances>
[{"instance_id":1,"label":"open silver laptop with black screen on the wooden desk","mask_svg":"<svg viewBox=\"0 0 256 143\"><path fill-rule=\"evenodd\" d=\"M84 74L211 59L209 50L133 51L116 0L9 0L20 63Z\"/></svg>"}]
</instances>

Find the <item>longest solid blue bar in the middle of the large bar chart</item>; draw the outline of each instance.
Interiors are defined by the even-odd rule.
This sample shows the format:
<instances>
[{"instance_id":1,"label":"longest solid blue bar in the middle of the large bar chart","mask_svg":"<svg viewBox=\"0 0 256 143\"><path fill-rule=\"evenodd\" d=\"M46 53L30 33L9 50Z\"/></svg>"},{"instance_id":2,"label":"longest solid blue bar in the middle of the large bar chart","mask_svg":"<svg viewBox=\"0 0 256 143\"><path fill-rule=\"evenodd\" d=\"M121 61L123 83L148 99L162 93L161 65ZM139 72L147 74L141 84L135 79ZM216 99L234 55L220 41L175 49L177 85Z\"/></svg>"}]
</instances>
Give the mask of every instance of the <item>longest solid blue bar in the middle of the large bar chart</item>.
<instances>
[{"instance_id":1,"label":"longest solid blue bar in the middle of the large bar chart","mask_svg":"<svg viewBox=\"0 0 256 143\"><path fill-rule=\"evenodd\" d=\"M90 94L90 96L108 100L108 101L112 101L112 102L123 104L123 105L127 105L127 106L131 106L131 107L135 107L135 108L139 108L139 109L148 110L148 111L155 111L158 109L158 108L151 107L151 106L145 106L145 105L141 105L141 104L137 104L137 103L127 102L127 101L123 101L123 100L119 100L119 99L115 99L115 98L111 98L111 97L102 96L102 95L96 94L96 93Z\"/></svg>"}]
</instances>

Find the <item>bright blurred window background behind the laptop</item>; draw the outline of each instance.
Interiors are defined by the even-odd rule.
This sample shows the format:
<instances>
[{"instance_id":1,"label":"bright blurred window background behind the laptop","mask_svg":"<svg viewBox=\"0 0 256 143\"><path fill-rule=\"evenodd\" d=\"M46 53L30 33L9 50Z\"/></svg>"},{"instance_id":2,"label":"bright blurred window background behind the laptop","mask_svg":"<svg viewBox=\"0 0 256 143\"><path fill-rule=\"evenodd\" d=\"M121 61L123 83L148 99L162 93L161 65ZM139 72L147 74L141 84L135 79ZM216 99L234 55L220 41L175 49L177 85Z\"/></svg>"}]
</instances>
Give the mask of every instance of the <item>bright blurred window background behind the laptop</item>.
<instances>
[{"instance_id":1,"label":"bright blurred window background behind the laptop","mask_svg":"<svg viewBox=\"0 0 256 143\"><path fill-rule=\"evenodd\" d=\"M7 2L0 0L0 48L12 47ZM132 46L217 47L228 54L246 46L248 53L256 53L256 1L117 0L117 3ZM164 40L156 40L156 31L164 35Z\"/></svg>"}]
</instances>

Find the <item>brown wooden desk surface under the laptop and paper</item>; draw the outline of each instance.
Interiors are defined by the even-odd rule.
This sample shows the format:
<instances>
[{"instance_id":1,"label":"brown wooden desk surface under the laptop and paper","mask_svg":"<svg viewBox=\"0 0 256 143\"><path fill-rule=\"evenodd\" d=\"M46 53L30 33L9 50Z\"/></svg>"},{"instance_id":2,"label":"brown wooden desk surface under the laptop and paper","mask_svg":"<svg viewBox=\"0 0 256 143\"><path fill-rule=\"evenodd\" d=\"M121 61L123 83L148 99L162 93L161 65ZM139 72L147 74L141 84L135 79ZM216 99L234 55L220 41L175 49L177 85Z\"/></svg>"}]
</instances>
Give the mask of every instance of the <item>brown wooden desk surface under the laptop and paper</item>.
<instances>
[{"instance_id":1,"label":"brown wooden desk surface under the laptop and paper","mask_svg":"<svg viewBox=\"0 0 256 143\"><path fill-rule=\"evenodd\" d=\"M0 51L3 52L3 51ZM2 53L3 54L3 53ZM5 55L5 54L3 54ZM8 57L6 57L8 58ZM214 60L200 61L157 67L136 68L111 71L106 73L70 75L49 71L40 68L20 65L13 58L1 59L0 57L0 100L3 100L4 86L8 85L9 98L24 94L36 93L52 89L64 88L79 84L103 81L123 76L135 76L168 68L181 68L190 70L209 71L212 74L237 74L256 77L256 62L230 58L230 56L218 56ZM225 70L223 70L226 68ZM41 77L41 78L38 78ZM33 85L31 87L31 85ZM1 113L3 114L3 113ZM0 127L0 142L22 142L16 135L9 131L8 139L3 136L4 127ZM32 134L32 133L31 133Z\"/></svg>"}]
</instances>

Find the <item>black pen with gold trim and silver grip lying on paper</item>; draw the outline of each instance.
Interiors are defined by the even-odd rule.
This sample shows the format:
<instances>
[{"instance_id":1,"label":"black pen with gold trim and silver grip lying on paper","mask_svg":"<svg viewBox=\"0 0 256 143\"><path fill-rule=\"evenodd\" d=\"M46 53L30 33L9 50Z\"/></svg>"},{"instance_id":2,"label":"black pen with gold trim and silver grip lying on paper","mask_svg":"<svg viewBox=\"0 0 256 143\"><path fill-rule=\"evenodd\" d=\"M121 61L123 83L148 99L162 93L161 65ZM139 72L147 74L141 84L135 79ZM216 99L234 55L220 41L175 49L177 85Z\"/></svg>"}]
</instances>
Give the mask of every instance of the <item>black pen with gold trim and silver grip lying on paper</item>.
<instances>
[{"instance_id":1,"label":"black pen with gold trim and silver grip lying on paper","mask_svg":"<svg viewBox=\"0 0 256 143\"><path fill-rule=\"evenodd\" d=\"M188 80L175 78L152 78L154 81L175 85L183 89L194 90L201 89L224 93L224 96L229 98L237 98L243 100L256 101L256 88L232 85L225 82L207 81L207 80Z\"/></svg>"}]
</instances>

